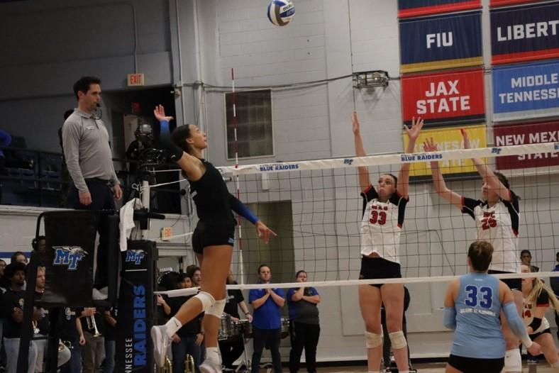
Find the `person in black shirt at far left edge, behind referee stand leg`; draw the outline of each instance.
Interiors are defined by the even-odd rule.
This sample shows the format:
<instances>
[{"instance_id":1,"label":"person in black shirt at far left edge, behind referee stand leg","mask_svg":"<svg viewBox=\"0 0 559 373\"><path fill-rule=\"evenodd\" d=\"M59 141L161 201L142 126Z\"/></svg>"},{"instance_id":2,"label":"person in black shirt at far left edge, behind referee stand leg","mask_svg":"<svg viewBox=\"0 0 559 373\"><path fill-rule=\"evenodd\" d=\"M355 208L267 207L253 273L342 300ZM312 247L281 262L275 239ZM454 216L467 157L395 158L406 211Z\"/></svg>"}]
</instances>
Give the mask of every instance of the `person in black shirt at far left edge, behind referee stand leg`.
<instances>
[{"instance_id":1,"label":"person in black shirt at far left edge, behind referee stand leg","mask_svg":"<svg viewBox=\"0 0 559 373\"><path fill-rule=\"evenodd\" d=\"M23 300L25 291L23 284L26 281L26 265L21 262L13 261L4 269L4 277L9 282L6 293L0 301L1 316L6 318L4 324L4 347L6 348L6 368L7 373L16 373L19 340L21 336L21 323L23 322ZM33 311L33 321L40 318L40 311ZM35 372L35 362L37 360L37 347L31 342L28 351L28 373Z\"/></svg>"}]
</instances>

